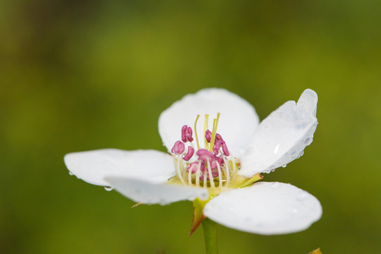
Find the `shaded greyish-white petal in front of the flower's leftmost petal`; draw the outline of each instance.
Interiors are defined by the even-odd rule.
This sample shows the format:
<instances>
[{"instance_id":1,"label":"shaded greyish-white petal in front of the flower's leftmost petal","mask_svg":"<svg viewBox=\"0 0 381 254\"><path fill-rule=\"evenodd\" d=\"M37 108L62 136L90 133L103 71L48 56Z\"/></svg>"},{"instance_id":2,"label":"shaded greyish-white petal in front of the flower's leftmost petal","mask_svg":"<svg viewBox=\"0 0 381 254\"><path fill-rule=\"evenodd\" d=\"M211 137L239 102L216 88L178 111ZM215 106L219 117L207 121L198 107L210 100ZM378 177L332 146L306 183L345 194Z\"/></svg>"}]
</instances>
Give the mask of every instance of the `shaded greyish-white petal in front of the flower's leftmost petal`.
<instances>
[{"instance_id":1,"label":"shaded greyish-white petal in front of the flower's leftmost petal","mask_svg":"<svg viewBox=\"0 0 381 254\"><path fill-rule=\"evenodd\" d=\"M195 200L195 198L206 200L209 197L207 188L150 183L113 176L104 179L126 198L143 204L167 205L180 200Z\"/></svg>"}]
</instances>

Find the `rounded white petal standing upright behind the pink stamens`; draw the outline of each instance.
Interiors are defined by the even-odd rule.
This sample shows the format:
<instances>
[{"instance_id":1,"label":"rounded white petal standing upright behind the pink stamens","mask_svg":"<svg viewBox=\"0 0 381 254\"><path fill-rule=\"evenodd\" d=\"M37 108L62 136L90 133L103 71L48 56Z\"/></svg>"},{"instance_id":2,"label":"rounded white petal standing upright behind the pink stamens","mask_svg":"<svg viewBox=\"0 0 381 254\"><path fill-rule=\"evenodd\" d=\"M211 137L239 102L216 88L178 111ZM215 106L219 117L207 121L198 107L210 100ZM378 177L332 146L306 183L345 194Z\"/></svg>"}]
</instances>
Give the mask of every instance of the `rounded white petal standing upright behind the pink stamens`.
<instances>
[{"instance_id":1,"label":"rounded white petal standing upright behind the pink stamens","mask_svg":"<svg viewBox=\"0 0 381 254\"><path fill-rule=\"evenodd\" d=\"M198 114L197 131L200 146L204 147L203 131L205 114L209 114L209 129L212 131L213 119L221 113L217 133L222 135L226 145L234 156L243 154L248 138L258 126L258 115L253 106L238 95L224 89L209 88L193 95L186 95L174 102L159 117L159 134L168 151L176 140L181 140L181 127L191 126L194 135L194 124ZM195 144L195 140L193 143Z\"/></svg>"}]
</instances>

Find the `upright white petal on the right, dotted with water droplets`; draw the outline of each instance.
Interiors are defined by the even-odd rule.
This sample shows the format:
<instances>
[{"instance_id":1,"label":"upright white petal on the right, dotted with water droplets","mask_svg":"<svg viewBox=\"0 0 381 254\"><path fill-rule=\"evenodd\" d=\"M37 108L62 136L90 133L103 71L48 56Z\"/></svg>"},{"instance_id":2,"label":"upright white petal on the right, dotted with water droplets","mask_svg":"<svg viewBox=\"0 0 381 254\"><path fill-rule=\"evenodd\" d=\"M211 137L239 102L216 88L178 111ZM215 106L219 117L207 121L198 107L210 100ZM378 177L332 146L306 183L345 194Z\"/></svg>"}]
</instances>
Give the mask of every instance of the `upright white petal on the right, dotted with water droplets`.
<instances>
[{"instance_id":1,"label":"upright white petal on the right, dotted with water droplets","mask_svg":"<svg viewBox=\"0 0 381 254\"><path fill-rule=\"evenodd\" d=\"M308 89L297 104L286 102L267 116L241 158L239 174L250 177L257 173L269 173L303 155L304 148L313 140L317 126L316 104L316 93Z\"/></svg>"}]
</instances>

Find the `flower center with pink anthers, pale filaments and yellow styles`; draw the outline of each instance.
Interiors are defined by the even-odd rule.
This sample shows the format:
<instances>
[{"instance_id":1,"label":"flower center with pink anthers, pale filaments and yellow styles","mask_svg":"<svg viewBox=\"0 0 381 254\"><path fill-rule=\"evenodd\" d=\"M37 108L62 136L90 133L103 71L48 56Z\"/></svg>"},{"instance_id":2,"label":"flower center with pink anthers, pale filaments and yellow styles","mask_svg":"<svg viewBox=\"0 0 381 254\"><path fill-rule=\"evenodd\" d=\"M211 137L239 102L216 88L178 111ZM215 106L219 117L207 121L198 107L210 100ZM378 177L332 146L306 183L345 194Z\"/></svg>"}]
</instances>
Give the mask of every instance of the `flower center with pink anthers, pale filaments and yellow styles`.
<instances>
[{"instance_id":1,"label":"flower center with pink anthers, pale filaments and yellow styles","mask_svg":"<svg viewBox=\"0 0 381 254\"><path fill-rule=\"evenodd\" d=\"M231 156L224 139L217 133L219 113L213 120L212 131L208 128L209 115L205 114L203 140L200 147L196 125L200 115L195 120L195 140L190 126L181 128L181 140L176 141L171 152L174 154L174 166L177 177L184 186L201 186L205 188L222 188L229 185L232 176L236 175L239 162ZM188 148L186 149L186 145Z\"/></svg>"}]
</instances>

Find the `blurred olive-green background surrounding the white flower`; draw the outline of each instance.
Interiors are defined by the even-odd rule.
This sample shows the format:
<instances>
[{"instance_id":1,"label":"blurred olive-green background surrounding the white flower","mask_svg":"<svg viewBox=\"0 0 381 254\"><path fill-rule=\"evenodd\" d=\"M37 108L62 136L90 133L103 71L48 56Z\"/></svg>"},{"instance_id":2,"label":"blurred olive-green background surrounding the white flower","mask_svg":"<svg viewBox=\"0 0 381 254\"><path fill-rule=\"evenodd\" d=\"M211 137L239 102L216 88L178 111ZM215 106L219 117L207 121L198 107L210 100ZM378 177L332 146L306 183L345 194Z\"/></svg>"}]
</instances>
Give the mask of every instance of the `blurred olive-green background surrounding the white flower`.
<instances>
[{"instance_id":1,"label":"blurred olive-green background surrounding the white flower","mask_svg":"<svg viewBox=\"0 0 381 254\"><path fill-rule=\"evenodd\" d=\"M307 231L219 226L220 253L380 253L380 1L0 1L0 252L204 253L191 202L134 204L63 155L165 151L161 111L225 87L260 119L306 88L313 144L265 181L322 202Z\"/></svg>"}]
</instances>

